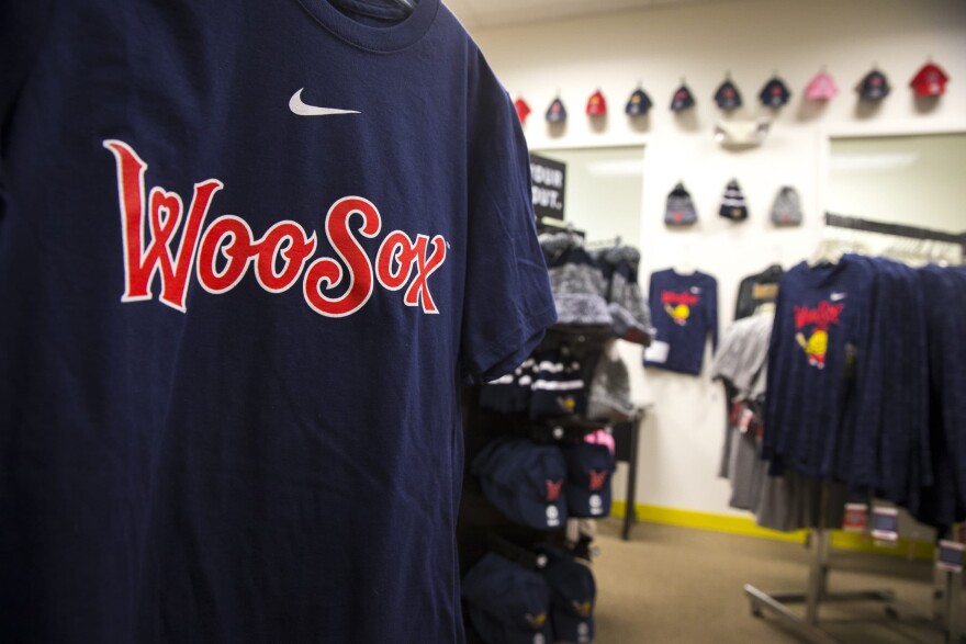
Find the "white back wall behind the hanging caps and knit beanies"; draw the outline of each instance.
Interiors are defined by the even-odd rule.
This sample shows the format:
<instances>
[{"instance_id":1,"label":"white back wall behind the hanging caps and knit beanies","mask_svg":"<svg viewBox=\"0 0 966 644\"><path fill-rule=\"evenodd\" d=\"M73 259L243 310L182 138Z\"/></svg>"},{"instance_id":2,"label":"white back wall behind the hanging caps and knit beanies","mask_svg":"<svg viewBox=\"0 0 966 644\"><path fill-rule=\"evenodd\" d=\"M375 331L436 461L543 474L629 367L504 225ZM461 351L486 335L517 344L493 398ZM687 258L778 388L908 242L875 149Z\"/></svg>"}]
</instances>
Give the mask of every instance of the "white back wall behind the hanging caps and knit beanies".
<instances>
[{"instance_id":1,"label":"white back wall behind the hanging caps and knit beanies","mask_svg":"<svg viewBox=\"0 0 966 644\"><path fill-rule=\"evenodd\" d=\"M966 129L963 0L749 0L482 30L473 36L514 98L523 95L533 109L525 126L532 149L645 146L642 282L682 258L716 275L722 328L731 320L742 276L774 261L790 265L816 248L830 133ZM929 56L952 78L947 93L931 108L917 103L908 88ZM873 63L892 84L892 94L877 110L857 105L853 91ZM805 86L822 65L840 88L824 106L802 101ZM794 95L777 113L765 145L742 152L720 149L711 131L721 115L711 97L726 71L745 102L733 117L743 118L768 113L756 97L776 70ZM697 106L675 117L667 108L682 77ZM655 104L647 123L624 114L638 81ZM598 88L610 114L592 125L584 105ZM550 132L542 117L558 90L570 114L563 133ZM751 218L742 224L717 216L732 177L750 203ZM685 180L701 218L684 233L662 224L666 193L678 179ZM806 223L776 230L767 212L785 183L798 188ZM655 407L643 428L638 501L728 511L727 484L716 478L723 432L719 387L707 374L694 379L649 371L648 379ZM615 483L620 489L621 482Z\"/></svg>"}]
</instances>

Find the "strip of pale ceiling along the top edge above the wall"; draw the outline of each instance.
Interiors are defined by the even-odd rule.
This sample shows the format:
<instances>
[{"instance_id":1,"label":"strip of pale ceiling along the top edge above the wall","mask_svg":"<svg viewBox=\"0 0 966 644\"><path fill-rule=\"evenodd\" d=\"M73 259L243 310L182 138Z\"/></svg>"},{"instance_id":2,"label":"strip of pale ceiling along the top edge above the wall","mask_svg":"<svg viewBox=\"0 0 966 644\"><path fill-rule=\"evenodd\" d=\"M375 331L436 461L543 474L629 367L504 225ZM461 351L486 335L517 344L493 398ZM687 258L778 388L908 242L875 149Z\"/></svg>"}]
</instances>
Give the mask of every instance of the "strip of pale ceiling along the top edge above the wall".
<instances>
[{"instance_id":1,"label":"strip of pale ceiling along the top edge above the wall","mask_svg":"<svg viewBox=\"0 0 966 644\"><path fill-rule=\"evenodd\" d=\"M468 30L734 0L443 0Z\"/></svg>"}]
</instances>

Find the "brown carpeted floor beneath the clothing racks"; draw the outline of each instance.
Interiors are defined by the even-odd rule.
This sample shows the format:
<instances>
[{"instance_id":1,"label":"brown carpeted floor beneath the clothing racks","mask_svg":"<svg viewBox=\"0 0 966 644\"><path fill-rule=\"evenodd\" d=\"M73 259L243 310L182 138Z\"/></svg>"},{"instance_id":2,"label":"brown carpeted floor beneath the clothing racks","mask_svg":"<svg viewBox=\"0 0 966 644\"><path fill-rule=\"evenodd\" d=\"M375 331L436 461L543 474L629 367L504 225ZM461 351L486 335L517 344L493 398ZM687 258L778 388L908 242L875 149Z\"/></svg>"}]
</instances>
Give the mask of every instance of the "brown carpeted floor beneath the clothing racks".
<instances>
[{"instance_id":1,"label":"brown carpeted floor beneath the clothing racks","mask_svg":"<svg viewBox=\"0 0 966 644\"><path fill-rule=\"evenodd\" d=\"M599 524L596 644L800 643L767 614L754 618L742 590L802 590L810 551L800 544L638 523L621 541L619 521ZM881 603L825 605L823 628L845 644L942 643L939 630L911 615L932 614L932 565L833 551L830 589L888 588L910 611L895 619ZM796 607L804 612L804 607Z\"/></svg>"}]
</instances>

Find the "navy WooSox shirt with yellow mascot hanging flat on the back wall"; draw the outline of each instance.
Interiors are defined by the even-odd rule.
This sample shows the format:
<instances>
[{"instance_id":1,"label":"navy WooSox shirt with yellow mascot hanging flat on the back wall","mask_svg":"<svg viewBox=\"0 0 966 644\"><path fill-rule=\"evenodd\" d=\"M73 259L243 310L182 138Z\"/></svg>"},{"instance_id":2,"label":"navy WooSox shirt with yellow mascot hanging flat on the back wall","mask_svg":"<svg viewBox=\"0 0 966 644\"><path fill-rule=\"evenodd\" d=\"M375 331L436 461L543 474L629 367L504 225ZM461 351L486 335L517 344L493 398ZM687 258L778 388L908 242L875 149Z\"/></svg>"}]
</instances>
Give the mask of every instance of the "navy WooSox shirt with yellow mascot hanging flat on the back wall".
<instances>
[{"instance_id":1,"label":"navy WooSox shirt with yellow mascot hanging flat on the back wall","mask_svg":"<svg viewBox=\"0 0 966 644\"><path fill-rule=\"evenodd\" d=\"M655 334L644 365L699 374L708 335L712 349L718 347L717 280L700 271L658 271L651 275L648 301Z\"/></svg>"}]
</instances>

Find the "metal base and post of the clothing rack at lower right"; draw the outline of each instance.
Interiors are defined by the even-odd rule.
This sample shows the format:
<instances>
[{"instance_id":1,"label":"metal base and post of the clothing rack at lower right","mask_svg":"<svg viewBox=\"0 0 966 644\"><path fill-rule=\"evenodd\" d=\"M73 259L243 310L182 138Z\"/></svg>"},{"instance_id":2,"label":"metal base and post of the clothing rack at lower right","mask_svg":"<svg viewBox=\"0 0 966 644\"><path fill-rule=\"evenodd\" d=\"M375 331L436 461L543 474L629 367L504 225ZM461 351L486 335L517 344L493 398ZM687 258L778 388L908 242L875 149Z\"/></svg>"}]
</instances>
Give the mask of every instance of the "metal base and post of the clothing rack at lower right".
<instances>
[{"instance_id":1,"label":"metal base and post of the clothing rack at lower right","mask_svg":"<svg viewBox=\"0 0 966 644\"><path fill-rule=\"evenodd\" d=\"M829 505L829 486L822 486L820 521L824 521ZM784 623L790 625L808 642L815 644L840 644L840 641L830 635L819 625L819 608L824 602L842 601L879 601L885 603L885 613L890 618L899 618L900 614L911 621L926 623L941 629L945 634L945 642L959 644L964 641L959 606L962 601L963 578L962 573L943 572L941 579L936 579L936 588L933 598L936 610L932 619L917 614L909 607L896 600L896 594L887 589L829 591L829 550L831 545L831 532L824 526L813 529L809 533L809 546L812 550L812 560L809 567L808 585L805 592L778 591L767 592L752 586L744 585L744 594L751 603L751 613L756 618L763 617L765 610ZM793 611L787 605L805 603L805 614Z\"/></svg>"}]
</instances>

